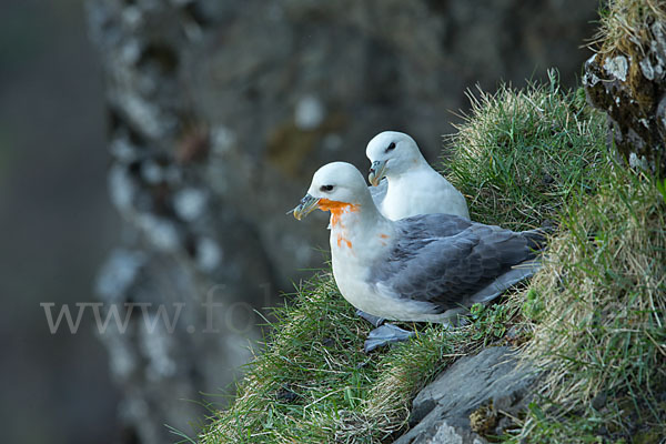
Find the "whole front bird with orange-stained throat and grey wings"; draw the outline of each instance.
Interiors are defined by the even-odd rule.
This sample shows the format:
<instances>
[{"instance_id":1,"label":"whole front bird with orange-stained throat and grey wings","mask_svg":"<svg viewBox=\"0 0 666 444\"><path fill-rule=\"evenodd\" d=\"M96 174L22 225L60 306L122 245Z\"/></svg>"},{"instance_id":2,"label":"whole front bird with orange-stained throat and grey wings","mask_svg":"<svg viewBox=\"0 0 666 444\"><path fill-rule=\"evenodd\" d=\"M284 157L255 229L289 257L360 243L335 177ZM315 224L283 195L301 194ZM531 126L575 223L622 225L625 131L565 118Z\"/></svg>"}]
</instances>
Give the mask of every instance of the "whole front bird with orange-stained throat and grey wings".
<instances>
[{"instance_id":1,"label":"whole front bird with orange-stained throat and grey wings","mask_svg":"<svg viewBox=\"0 0 666 444\"><path fill-rule=\"evenodd\" d=\"M356 309L394 321L446 323L493 300L535 273L544 243L539 231L513 232L451 214L392 221L373 203L361 172L344 162L315 172L294 216L317 208L331 212L341 294Z\"/></svg>"}]
</instances>

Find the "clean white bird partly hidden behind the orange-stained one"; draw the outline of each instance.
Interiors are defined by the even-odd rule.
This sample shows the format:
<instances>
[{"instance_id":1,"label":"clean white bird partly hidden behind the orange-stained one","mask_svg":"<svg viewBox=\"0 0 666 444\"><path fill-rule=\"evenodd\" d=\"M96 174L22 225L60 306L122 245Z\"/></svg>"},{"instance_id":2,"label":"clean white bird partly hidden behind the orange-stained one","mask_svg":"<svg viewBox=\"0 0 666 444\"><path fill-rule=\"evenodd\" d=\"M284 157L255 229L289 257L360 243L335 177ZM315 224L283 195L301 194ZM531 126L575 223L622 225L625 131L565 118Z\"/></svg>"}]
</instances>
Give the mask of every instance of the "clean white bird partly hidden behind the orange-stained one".
<instances>
[{"instance_id":1,"label":"clean white bird partly hidden behind the orange-stained one","mask_svg":"<svg viewBox=\"0 0 666 444\"><path fill-rule=\"evenodd\" d=\"M465 196L432 169L410 135L381 132L367 143L365 155L371 161L370 183L385 188L373 192L384 216L396 221L416 214L445 213L470 219Z\"/></svg>"}]
</instances>

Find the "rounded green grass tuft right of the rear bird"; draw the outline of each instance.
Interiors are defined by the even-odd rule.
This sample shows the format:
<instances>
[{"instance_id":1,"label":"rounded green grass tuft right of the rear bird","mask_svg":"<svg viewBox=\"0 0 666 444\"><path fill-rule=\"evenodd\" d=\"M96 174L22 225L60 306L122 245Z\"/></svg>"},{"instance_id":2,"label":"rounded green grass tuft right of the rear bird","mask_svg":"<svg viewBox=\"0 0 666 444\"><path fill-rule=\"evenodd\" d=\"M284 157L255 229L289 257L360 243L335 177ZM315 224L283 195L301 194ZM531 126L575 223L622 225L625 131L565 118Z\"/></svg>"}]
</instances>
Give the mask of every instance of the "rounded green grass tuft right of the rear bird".
<instances>
[{"instance_id":1,"label":"rounded green grass tuft right of the rear bird","mask_svg":"<svg viewBox=\"0 0 666 444\"><path fill-rule=\"evenodd\" d=\"M472 110L446 138L450 180L467 198L473 220L512 230L557 218L569 196L594 192L604 162L603 117L584 95L549 82L495 94L468 94Z\"/></svg>"}]
</instances>

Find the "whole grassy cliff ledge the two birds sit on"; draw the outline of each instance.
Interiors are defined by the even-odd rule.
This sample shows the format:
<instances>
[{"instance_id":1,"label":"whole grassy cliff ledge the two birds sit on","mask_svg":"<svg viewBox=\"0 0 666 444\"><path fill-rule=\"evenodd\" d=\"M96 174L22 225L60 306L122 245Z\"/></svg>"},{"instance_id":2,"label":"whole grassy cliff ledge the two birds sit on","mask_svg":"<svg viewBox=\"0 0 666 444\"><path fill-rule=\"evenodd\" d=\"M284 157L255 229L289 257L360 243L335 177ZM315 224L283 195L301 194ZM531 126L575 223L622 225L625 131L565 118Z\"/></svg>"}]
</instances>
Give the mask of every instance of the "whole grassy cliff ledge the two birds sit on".
<instances>
[{"instance_id":1,"label":"whole grassy cliff ledge the two birds sit on","mask_svg":"<svg viewBox=\"0 0 666 444\"><path fill-rule=\"evenodd\" d=\"M446 140L443 171L477 221L556 226L544 269L464 327L403 324L416 337L370 355L370 324L329 270L313 273L275 310L265 352L202 443L391 442L421 387L495 344L519 347L545 376L529 410L490 440L630 442L665 432L666 196L616 164L605 117L582 90L562 91L555 73L472 100Z\"/></svg>"}]
</instances>

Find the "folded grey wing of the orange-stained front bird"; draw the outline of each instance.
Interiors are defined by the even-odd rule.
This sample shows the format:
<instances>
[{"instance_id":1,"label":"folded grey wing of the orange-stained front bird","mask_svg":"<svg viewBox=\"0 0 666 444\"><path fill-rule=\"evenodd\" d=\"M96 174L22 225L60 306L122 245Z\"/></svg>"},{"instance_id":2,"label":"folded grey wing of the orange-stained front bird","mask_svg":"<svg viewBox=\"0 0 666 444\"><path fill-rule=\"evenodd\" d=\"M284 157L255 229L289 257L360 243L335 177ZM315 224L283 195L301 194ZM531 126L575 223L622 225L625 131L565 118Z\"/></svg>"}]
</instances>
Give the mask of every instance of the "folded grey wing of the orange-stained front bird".
<instances>
[{"instance_id":1,"label":"folded grey wing of the orange-stained front bird","mask_svg":"<svg viewBox=\"0 0 666 444\"><path fill-rule=\"evenodd\" d=\"M443 236L417 238L411 232L377 266L375 276L401 297L430 302L433 313L443 313L485 302L531 275L532 269L517 273L514 269L535 259L531 245L523 233L476 223ZM500 292L488 293L498 286Z\"/></svg>"}]
</instances>

